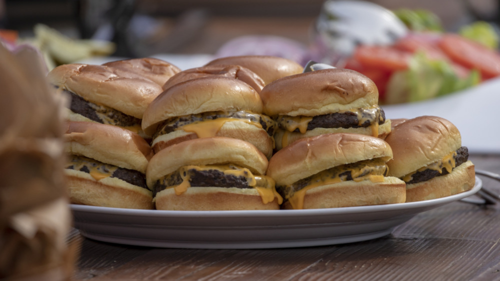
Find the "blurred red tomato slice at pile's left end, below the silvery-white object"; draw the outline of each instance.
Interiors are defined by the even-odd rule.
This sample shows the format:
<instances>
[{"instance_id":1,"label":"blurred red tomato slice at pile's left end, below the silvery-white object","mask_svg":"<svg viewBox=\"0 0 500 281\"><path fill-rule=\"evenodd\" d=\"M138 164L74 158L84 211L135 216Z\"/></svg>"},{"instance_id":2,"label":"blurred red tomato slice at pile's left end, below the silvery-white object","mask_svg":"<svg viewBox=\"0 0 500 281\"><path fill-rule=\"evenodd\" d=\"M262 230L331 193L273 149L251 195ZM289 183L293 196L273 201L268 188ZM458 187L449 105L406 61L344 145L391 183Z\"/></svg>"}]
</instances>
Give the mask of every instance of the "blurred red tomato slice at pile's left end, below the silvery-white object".
<instances>
[{"instance_id":1,"label":"blurred red tomato slice at pile's left end, below the silvery-white object","mask_svg":"<svg viewBox=\"0 0 500 281\"><path fill-rule=\"evenodd\" d=\"M360 45L354 50L354 58L363 66L386 71L408 68L411 53L393 46Z\"/></svg>"}]
</instances>

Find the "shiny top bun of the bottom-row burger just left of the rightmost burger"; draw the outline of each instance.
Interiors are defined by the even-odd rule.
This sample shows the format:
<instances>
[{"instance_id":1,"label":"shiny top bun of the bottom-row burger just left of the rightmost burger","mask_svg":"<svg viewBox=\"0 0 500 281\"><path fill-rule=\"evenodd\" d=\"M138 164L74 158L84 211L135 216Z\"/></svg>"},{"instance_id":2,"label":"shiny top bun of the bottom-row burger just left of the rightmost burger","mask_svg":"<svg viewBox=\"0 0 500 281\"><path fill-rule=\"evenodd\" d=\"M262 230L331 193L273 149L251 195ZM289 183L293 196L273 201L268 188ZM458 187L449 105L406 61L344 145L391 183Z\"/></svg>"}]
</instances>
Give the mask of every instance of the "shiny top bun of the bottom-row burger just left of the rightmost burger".
<instances>
[{"instance_id":1,"label":"shiny top bun of the bottom-row burger just left of the rightmost burger","mask_svg":"<svg viewBox=\"0 0 500 281\"><path fill-rule=\"evenodd\" d=\"M289 185L323 170L362 160L392 157L383 140L352 133L324 134L300 139L276 152L266 174L277 185Z\"/></svg>"}]
</instances>

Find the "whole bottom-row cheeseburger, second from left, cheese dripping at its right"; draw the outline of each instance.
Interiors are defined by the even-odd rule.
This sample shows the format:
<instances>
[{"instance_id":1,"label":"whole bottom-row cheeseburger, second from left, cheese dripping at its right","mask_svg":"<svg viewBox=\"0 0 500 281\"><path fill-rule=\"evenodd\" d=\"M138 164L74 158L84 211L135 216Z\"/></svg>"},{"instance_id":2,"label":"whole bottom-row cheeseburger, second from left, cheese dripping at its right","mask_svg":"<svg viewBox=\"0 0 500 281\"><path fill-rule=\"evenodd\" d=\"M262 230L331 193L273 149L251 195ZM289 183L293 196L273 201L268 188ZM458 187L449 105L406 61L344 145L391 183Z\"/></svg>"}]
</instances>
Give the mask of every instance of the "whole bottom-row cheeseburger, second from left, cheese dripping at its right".
<instances>
[{"instance_id":1,"label":"whole bottom-row cheeseburger, second from left, cheese dripping at its right","mask_svg":"<svg viewBox=\"0 0 500 281\"><path fill-rule=\"evenodd\" d=\"M281 197L266 168L267 158L250 143L211 137L156 153L146 179L157 210L277 210Z\"/></svg>"}]
</instances>

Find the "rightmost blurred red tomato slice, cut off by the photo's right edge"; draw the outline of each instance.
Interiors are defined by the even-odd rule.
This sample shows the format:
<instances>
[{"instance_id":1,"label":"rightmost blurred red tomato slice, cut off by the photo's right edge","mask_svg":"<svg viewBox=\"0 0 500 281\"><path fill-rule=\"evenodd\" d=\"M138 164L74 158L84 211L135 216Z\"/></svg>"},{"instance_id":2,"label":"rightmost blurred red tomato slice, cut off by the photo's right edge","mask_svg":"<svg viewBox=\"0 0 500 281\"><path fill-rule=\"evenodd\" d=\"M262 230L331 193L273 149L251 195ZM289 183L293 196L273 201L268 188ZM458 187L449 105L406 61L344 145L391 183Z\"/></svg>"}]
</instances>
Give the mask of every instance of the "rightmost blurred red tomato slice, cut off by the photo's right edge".
<instances>
[{"instance_id":1,"label":"rightmost blurred red tomato slice, cut off by the photo's right edge","mask_svg":"<svg viewBox=\"0 0 500 281\"><path fill-rule=\"evenodd\" d=\"M469 69L478 69L483 79L500 75L500 54L456 34L444 34L438 43L454 62Z\"/></svg>"}]
</instances>

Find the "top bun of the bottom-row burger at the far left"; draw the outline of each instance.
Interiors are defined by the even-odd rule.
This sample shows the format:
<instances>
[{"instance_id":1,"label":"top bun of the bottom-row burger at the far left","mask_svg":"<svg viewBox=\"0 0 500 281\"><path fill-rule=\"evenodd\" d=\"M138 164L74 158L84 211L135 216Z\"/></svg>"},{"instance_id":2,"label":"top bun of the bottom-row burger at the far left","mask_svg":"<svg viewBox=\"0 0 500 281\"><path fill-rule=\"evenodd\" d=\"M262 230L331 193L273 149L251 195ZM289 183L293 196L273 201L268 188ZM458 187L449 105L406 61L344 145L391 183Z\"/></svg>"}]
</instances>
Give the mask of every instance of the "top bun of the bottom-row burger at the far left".
<instances>
[{"instance_id":1,"label":"top bun of the bottom-row burger at the far left","mask_svg":"<svg viewBox=\"0 0 500 281\"><path fill-rule=\"evenodd\" d=\"M66 153L141 173L146 172L153 155L147 142L136 133L94 122L67 122L64 141Z\"/></svg>"}]
</instances>

